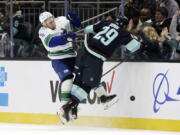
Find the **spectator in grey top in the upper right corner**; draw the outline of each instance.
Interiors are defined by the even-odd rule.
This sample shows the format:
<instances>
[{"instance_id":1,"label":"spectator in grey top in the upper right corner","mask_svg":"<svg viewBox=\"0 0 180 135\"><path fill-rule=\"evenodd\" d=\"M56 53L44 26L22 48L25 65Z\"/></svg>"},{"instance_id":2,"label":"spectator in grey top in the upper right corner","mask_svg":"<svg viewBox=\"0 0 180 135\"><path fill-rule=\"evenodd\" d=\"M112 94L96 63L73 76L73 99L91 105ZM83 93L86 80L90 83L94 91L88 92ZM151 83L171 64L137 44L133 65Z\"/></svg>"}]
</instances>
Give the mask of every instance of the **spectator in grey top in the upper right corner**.
<instances>
[{"instance_id":1,"label":"spectator in grey top in the upper right corner","mask_svg":"<svg viewBox=\"0 0 180 135\"><path fill-rule=\"evenodd\" d=\"M168 18L172 18L173 15L179 10L178 3L175 0L162 0L161 7L165 7L168 10Z\"/></svg>"}]
</instances>

